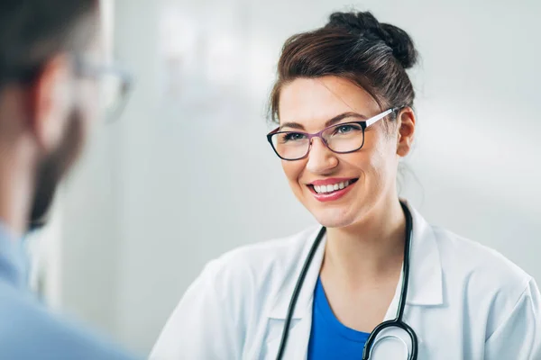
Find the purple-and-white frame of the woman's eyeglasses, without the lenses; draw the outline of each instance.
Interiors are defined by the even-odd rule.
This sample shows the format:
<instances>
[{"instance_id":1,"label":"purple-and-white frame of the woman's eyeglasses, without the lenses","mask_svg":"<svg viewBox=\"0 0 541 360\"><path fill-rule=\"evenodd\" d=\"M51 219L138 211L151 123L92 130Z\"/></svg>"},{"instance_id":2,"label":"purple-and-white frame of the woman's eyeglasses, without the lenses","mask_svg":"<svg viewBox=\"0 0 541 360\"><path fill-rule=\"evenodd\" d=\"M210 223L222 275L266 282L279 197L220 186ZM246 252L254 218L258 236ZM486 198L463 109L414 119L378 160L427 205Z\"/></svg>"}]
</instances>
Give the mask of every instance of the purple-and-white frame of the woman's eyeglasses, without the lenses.
<instances>
[{"instance_id":1,"label":"purple-and-white frame of the woman's eyeglasses, without the lenses","mask_svg":"<svg viewBox=\"0 0 541 360\"><path fill-rule=\"evenodd\" d=\"M280 131L280 127L278 127L278 128L272 130L271 132L269 132L267 134L267 140L271 144L271 148L274 150L276 155L278 157L280 157L282 160L285 160L285 161L297 161L297 160L306 158L308 156L308 154L310 153L310 149L312 148L312 139L314 139L314 138L321 139L321 142L323 142L325 144L326 148L333 151L335 154L350 154L352 152L359 151L364 146L364 130L366 130L366 128L368 128L369 126L373 125L374 123L380 121L381 119L385 118L386 116L390 115L391 113L400 111L404 107L405 106L399 106L399 107L390 108L390 109L388 109L388 110L386 110L384 112L381 112L381 113L379 113L379 114L377 114L375 116L372 116L370 119L367 119L367 120L364 120L364 121L348 121L348 122L344 122L344 123L338 123L338 124L334 124L334 125L331 125L331 126L327 126L324 130L321 130L321 131L313 133L313 134L311 134L309 132L303 132L303 131ZM337 126L344 126L344 125L348 125L348 124L361 125L361 128L362 128L362 144L361 144L361 146L359 148L355 148L355 149L350 150L350 151L335 151L334 149L330 148L329 144L326 142L326 139L323 138L322 134L326 130L329 130L331 128L335 128ZM281 157L280 154L278 153L278 150L274 147L274 144L272 143L272 137L273 136L276 136L278 134L287 134L287 133L291 133L291 132L305 135L308 138L309 145L308 145L308 148L307 148L307 153L305 155L303 155L302 157L296 157L296 158Z\"/></svg>"}]
</instances>

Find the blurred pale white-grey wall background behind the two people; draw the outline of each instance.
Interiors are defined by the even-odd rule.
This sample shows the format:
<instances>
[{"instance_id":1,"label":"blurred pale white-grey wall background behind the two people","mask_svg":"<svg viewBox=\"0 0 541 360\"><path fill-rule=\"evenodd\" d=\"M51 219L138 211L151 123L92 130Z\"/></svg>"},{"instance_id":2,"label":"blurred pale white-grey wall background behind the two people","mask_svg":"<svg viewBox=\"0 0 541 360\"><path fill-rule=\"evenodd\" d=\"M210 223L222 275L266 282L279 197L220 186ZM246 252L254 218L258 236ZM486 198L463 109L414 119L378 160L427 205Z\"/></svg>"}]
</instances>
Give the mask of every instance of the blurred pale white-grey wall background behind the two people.
<instances>
[{"instance_id":1,"label":"blurred pale white-grey wall background behind the two people","mask_svg":"<svg viewBox=\"0 0 541 360\"><path fill-rule=\"evenodd\" d=\"M53 307L146 354L208 260L314 224L265 139L267 96L284 40L353 8L421 55L402 195L541 282L541 3L102 2L110 54L136 84L34 235L32 281Z\"/></svg>"}]
</instances>

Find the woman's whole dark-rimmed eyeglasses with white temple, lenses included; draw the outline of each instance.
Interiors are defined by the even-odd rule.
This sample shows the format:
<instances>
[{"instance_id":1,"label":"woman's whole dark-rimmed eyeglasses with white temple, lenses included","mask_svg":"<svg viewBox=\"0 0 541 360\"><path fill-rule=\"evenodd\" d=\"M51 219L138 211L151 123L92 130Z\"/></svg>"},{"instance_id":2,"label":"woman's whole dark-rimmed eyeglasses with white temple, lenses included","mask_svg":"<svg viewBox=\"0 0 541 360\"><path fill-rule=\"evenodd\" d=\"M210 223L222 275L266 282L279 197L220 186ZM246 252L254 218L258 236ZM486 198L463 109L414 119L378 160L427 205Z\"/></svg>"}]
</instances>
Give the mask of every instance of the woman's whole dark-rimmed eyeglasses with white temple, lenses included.
<instances>
[{"instance_id":1,"label":"woman's whole dark-rimmed eyeglasses with white temple, lenses included","mask_svg":"<svg viewBox=\"0 0 541 360\"><path fill-rule=\"evenodd\" d=\"M307 157L312 139L319 138L331 151L347 154L357 151L364 145L364 130L402 107L394 107L371 117L366 121L351 121L329 126L315 134L299 131L272 130L267 139L274 152L282 160L294 161Z\"/></svg>"}]
</instances>

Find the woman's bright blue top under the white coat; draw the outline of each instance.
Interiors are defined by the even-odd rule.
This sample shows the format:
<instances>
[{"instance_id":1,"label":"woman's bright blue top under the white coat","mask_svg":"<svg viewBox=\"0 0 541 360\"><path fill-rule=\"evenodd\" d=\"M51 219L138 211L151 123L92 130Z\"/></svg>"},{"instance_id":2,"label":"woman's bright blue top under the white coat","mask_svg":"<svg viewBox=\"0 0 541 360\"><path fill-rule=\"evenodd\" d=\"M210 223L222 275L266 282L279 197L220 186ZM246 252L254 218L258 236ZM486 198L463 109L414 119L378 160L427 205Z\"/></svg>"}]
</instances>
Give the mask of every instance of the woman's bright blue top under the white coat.
<instances>
[{"instance_id":1,"label":"woman's bright blue top under the white coat","mask_svg":"<svg viewBox=\"0 0 541 360\"><path fill-rule=\"evenodd\" d=\"M335 317L327 301L321 280L317 279L312 310L312 330L308 343L308 360L362 358L364 343L370 334L350 329Z\"/></svg>"}]
</instances>

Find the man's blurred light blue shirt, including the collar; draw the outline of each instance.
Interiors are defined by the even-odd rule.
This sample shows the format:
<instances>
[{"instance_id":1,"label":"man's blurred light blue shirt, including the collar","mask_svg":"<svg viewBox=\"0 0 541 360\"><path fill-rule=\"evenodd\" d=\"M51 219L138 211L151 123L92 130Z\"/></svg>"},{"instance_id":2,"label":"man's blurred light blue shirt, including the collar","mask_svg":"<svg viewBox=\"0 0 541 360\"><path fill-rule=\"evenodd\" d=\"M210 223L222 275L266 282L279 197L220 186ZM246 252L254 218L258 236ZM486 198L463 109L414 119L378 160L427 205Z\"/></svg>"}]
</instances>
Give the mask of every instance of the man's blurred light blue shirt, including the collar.
<instances>
[{"instance_id":1,"label":"man's blurred light blue shirt, including the collar","mask_svg":"<svg viewBox=\"0 0 541 360\"><path fill-rule=\"evenodd\" d=\"M0 358L133 360L90 331L53 315L27 286L23 241L0 223Z\"/></svg>"}]
</instances>

